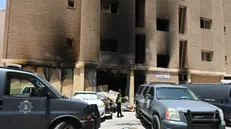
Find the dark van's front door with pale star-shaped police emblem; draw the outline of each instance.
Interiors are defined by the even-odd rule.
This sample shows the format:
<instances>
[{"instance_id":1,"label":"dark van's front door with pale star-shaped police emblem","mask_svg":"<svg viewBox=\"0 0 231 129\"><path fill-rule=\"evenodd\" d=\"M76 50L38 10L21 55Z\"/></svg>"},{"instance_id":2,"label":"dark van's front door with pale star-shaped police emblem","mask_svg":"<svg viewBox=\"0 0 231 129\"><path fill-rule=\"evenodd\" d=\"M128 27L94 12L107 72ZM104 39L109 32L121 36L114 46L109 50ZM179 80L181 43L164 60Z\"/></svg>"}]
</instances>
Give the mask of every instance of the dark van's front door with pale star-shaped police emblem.
<instances>
[{"instance_id":1,"label":"dark van's front door with pale star-shaped police emblem","mask_svg":"<svg viewBox=\"0 0 231 129\"><path fill-rule=\"evenodd\" d=\"M7 73L0 117L4 117L5 129L44 129L46 120L46 97L44 85L34 76L22 73ZM24 94L24 86L32 92ZM0 125L2 125L0 121Z\"/></svg>"}]
</instances>

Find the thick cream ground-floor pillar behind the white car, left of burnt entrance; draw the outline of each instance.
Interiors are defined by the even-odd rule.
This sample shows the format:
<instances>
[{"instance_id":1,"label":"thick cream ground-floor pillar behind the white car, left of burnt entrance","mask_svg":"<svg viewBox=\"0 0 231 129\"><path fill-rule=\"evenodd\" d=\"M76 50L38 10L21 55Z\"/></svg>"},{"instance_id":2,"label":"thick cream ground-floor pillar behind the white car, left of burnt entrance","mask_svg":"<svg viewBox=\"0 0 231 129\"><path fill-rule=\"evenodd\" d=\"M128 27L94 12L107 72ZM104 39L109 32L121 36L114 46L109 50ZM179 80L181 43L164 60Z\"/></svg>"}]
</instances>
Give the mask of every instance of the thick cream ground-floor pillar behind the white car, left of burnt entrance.
<instances>
[{"instance_id":1,"label":"thick cream ground-floor pillar behind the white car, left of burnt entrance","mask_svg":"<svg viewBox=\"0 0 231 129\"><path fill-rule=\"evenodd\" d=\"M74 69L73 93L84 91L84 66Z\"/></svg>"}]
</instances>

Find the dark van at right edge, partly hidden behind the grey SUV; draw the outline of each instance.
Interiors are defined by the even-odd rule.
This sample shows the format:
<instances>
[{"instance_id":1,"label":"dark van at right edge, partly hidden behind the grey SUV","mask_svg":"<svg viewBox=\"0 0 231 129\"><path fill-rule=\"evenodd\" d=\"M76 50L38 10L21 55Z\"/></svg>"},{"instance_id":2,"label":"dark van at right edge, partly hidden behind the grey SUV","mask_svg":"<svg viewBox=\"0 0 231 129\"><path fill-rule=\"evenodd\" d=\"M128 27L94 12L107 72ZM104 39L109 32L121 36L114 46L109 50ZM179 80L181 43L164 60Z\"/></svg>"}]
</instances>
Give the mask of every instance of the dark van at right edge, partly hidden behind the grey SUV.
<instances>
[{"instance_id":1,"label":"dark van at right edge, partly hidden behind the grey SUV","mask_svg":"<svg viewBox=\"0 0 231 129\"><path fill-rule=\"evenodd\" d=\"M224 84L183 84L191 89L202 101L211 103L224 112L226 124L231 123L231 85Z\"/></svg>"}]
</instances>

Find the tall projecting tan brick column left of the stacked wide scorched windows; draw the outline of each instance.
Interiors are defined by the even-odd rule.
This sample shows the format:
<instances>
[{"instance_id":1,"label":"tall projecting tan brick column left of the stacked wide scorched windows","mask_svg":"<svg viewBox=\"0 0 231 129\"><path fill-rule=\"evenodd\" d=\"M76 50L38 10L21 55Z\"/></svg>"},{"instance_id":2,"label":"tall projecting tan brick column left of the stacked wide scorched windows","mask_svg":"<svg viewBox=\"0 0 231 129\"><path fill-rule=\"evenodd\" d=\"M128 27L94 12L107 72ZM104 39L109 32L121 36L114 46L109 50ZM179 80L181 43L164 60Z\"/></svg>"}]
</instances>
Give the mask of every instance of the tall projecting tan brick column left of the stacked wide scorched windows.
<instances>
[{"instance_id":1,"label":"tall projecting tan brick column left of the stacked wide scorched windows","mask_svg":"<svg viewBox=\"0 0 231 129\"><path fill-rule=\"evenodd\" d=\"M81 1L80 61L98 61L100 50L100 0Z\"/></svg>"}]
</instances>

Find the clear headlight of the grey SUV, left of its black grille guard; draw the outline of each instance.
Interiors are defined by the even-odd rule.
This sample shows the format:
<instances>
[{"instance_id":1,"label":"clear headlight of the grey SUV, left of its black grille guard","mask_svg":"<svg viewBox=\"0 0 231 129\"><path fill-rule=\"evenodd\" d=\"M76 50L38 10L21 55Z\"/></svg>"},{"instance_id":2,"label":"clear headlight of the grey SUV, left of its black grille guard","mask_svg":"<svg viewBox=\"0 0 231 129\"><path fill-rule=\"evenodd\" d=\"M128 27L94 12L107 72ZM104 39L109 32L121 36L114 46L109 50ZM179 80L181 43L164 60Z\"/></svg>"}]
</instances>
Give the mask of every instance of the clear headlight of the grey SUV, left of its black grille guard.
<instances>
[{"instance_id":1,"label":"clear headlight of the grey SUV, left of its black grille guard","mask_svg":"<svg viewBox=\"0 0 231 129\"><path fill-rule=\"evenodd\" d=\"M177 109L168 108L165 112L165 118L172 121L180 121L180 114Z\"/></svg>"}]
</instances>

